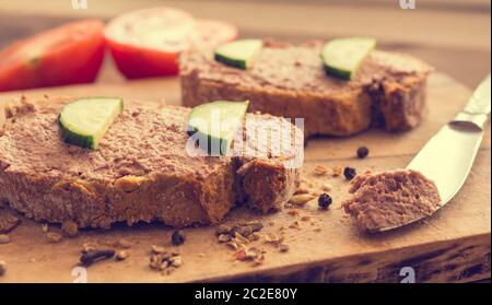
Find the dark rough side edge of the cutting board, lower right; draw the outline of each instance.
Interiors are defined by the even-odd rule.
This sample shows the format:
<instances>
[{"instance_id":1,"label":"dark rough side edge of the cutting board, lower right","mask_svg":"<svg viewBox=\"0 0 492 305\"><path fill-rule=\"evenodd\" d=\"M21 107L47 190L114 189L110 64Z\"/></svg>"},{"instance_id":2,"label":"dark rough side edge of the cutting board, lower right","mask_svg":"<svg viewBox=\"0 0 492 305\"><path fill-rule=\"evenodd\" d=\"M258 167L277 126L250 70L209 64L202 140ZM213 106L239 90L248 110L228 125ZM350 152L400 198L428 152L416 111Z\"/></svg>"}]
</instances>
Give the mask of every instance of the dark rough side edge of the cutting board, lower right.
<instances>
[{"instance_id":1,"label":"dark rough side edge of the cutting board, lower right","mask_svg":"<svg viewBox=\"0 0 492 305\"><path fill-rule=\"evenodd\" d=\"M413 272L413 274L412 274ZM473 282L491 278L491 234L272 268L203 282L273 283Z\"/></svg>"}]
</instances>

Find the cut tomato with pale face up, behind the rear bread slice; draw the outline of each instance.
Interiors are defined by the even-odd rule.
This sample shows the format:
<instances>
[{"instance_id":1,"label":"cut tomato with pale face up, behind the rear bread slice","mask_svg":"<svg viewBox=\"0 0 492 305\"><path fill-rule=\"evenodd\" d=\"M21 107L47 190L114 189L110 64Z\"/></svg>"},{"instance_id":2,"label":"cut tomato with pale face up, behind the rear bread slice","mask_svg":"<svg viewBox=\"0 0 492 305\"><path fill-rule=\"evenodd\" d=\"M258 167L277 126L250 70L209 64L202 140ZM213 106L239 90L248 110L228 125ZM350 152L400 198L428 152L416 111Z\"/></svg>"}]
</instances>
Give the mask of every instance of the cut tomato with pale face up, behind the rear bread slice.
<instances>
[{"instance_id":1,"label":"cut tomato with pale face up, behind the rear bread slice","mask_svg":"<svg viewBox=\"0 0 492 305\"><path fill-rule=\"evenodd\" d=\"M120 15L104 31L118 70L128 79L176 75L180 51L213 48L237 30L219 21L196 21L180 10L154 8Z\"/></svg>"}]
</instances>

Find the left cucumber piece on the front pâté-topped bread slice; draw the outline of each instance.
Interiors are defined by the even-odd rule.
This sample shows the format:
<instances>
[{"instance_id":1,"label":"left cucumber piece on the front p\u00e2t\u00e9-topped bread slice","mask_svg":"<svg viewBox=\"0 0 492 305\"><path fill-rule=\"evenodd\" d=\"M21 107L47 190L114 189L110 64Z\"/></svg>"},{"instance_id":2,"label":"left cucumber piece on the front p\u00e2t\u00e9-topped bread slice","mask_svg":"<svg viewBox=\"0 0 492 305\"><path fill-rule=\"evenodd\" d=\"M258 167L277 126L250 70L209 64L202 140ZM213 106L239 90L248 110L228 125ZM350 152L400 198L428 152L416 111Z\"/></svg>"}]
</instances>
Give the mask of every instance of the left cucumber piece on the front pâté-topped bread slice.
<instances>
[{"instance_id":1,"label":"left cucumber piece on the front p\u00e2t\u00e9-topped bread slice","mask_svg":"<svg viewBox=\"0 0 492 305\"><path fill-rule=\"evenodd\" d=\"M65 105L58 117L63 141L95 150L109 126L122 112L117 97L80 98Z\"/></svg>"}]
</instances>

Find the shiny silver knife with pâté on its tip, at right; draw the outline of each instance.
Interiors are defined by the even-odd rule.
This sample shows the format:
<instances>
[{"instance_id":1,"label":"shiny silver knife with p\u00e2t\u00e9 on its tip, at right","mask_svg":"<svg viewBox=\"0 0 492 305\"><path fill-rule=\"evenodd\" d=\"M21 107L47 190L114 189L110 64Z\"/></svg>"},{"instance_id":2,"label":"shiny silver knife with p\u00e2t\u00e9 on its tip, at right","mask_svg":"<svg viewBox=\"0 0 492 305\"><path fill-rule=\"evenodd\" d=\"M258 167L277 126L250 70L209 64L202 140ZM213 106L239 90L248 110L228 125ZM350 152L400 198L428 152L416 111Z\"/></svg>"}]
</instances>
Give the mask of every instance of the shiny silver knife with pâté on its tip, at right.
<instances>
[{"instance_id":1,"label":"shiny silver knife with p\u00e2t\u00e9 on its tip, at right","mask_svg":"<svg viewBox=\"0 0 492 305\"><path fill-rule=\"evenodd\" d=\"M407 166L433 180L441 196L441 207L459 191L470 173L483 138L491 110L490 74L470 97L465 109L441 128ZM382 227L388 231L405 224Z\"/></svg>"}]
</instances>

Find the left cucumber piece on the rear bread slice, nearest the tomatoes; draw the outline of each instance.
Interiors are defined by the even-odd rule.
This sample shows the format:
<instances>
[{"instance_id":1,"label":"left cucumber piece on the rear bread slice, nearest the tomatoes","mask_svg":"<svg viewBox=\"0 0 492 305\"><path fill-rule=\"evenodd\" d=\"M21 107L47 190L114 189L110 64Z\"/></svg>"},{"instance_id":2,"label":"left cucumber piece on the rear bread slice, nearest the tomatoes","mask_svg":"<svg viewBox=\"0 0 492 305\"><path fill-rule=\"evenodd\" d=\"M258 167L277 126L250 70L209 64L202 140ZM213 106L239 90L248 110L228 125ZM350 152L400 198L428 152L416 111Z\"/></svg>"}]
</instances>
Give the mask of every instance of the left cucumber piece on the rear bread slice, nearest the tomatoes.
<instances>
[{"instance_id":1,"label":"left cucumber piece on the rear bread slice, nearest the tomatoes","mask_svg":"<svg viewBox=\"0 0 492 305\"><path fill-rule=\"evenodd\" d=\"M215 49L215 60L246 70L253 67L262 46L263 42L260 39L243 39L229 43Z\"/></svg>"}]
</instances>

